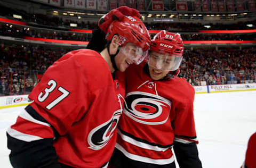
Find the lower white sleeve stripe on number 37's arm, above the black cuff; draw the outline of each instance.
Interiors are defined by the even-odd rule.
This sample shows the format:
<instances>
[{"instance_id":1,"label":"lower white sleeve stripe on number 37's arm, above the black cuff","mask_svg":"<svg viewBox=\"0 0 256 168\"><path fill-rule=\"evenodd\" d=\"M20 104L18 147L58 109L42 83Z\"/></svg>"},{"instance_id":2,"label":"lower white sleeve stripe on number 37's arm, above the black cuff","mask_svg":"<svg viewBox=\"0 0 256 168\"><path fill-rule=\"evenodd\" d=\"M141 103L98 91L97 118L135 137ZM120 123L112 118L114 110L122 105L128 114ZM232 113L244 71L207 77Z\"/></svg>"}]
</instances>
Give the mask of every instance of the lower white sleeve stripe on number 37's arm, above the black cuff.
<instances>
[{"instance_id":1,"label":"lower white sleeve stripe on number 37's arm, above the black cuff","mask_svg":"<svg viewBox=\"0 0 256 168\"><path fill-rule=\"evenodd\" d=\"M7 129L7 133L13 137L13 138L16 138L16 139L19 139L19 140L23 140L23 141L26 141L26 142L31 142L31 141L34 141L34 140L40 140L40 139L43 139L41 137L37 137L37 136L33 136L33 135L28 135L26 133L22 133L20 131L17 131L17 130L14 130L12 129L11 127L9 127Z\"/></svg>"}]
</instances>

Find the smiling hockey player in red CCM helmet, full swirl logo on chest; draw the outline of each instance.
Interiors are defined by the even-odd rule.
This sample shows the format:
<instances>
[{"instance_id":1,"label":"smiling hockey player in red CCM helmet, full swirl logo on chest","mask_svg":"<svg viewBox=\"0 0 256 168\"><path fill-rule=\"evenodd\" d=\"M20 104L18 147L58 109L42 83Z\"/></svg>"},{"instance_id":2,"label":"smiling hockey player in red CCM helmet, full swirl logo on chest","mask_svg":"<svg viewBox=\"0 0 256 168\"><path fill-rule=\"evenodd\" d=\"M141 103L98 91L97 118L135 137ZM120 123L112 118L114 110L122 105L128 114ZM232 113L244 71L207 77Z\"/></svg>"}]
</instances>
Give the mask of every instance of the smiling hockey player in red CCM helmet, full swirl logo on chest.
<instances>
[{"instance_id":1,"label":"smiling hockey player in red CCM helmet, full swirl logo on chest","mask_svg":"<svg viewBox=\"0 0 256 168\"><path fill-rule=\"evenodd\" d=\"M119 167L201 168L196 144L195 90L178 78L183 41L178 33L160 31L151 40L148 63L125 72L124 112L110 165Z\"/></svg>"}]
</instances>

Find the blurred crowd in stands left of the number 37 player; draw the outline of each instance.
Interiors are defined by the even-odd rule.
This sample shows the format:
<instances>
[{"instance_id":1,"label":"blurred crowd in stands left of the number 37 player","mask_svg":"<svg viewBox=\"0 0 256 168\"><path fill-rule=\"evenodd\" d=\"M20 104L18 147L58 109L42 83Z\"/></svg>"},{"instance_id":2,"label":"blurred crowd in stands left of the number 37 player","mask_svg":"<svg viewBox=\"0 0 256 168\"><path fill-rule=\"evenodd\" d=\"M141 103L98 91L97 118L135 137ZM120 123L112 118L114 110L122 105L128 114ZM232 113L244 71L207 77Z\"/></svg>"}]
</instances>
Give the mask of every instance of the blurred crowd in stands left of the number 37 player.
<instances>
[{"instance_id":1,"label":"blurred crowd in stands left of the number 37 player","mask_svg":"<svg viewBox=\"0 0 256 168\"><path fill-rule=\"evenodd\" d=\"M35 46L0 47L0 94L28 94L37 83L37 75L65 54L65 49Z\"/></svg>"}]
</instances>

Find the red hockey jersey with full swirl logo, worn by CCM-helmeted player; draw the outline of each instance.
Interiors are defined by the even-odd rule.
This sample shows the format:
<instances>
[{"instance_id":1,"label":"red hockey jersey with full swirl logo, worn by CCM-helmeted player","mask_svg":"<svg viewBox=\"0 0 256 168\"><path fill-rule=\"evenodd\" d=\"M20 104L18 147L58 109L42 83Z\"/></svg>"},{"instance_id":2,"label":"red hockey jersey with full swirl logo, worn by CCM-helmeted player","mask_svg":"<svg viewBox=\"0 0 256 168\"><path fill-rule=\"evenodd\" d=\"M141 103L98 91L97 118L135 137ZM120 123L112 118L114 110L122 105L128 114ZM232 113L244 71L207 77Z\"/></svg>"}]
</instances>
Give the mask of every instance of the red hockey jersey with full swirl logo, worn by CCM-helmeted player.
<instances>
[{"instance_id":1,"label":"red hockey jersey with full swirl logo, worn by CCM-helmeted player","mask_svg":"<svg viewBox=\"0 0 256 168\"><path fill-rule=\"evenodd\" d=\"M173 141L198 143L193 103L194 88L183 78L154 81L146 62L125 72L124 111L118 123L116 148L127 158L165 165L174 161Z\"/></svg>"}]
</instances>

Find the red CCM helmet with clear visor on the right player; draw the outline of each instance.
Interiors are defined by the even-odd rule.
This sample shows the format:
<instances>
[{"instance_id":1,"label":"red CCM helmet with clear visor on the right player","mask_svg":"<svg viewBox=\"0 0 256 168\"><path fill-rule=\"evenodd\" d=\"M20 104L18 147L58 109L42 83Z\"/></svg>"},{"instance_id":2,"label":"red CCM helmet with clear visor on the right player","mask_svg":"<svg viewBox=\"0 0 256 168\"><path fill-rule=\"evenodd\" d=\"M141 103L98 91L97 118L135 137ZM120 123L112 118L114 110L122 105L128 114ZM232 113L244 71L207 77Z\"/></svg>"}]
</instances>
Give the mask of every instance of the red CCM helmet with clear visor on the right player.
<instances>
[{"instance_id":1,"label":"red CCM helmet with clear visor on the right player","mask_svg":"<svg viewBox=\"0 0 256 168\"><path fill-rule=\"evenodd\" d=\"M183 41L179 33L161 30L151 40L150 51L150 66L159 70L175 71L182 61Z\"/></svg>"}]
</instances>

